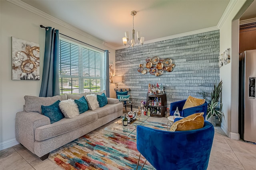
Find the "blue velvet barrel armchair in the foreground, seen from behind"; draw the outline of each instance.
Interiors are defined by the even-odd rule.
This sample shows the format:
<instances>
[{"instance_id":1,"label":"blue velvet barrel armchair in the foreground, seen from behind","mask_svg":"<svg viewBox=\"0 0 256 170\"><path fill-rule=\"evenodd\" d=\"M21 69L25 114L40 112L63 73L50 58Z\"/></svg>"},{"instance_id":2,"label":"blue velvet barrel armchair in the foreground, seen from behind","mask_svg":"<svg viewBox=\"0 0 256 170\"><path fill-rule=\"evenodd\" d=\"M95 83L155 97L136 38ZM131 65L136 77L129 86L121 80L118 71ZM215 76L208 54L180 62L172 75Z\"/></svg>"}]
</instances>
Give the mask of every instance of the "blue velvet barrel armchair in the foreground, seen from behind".
<instances>
[{"instance_id":1,"label":"blue velvet barrel armchair in the foreground, seen from behind","mask_svg":"<svg viewBox=\"0 0 256 170\"><path fill-rule=\"evenodd\" d=\"M170 132L141 125L136 131L138 151L156 170L207 169L214 137L214 127L208 121L191 131Z\"/></svg>"}]
</instances>

